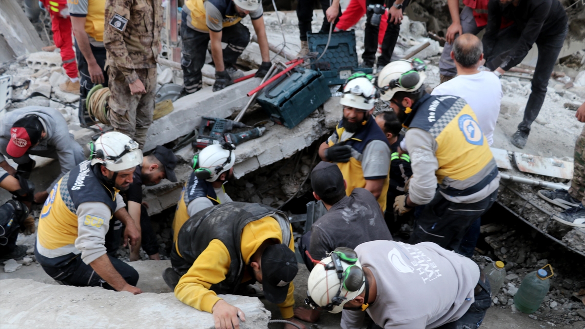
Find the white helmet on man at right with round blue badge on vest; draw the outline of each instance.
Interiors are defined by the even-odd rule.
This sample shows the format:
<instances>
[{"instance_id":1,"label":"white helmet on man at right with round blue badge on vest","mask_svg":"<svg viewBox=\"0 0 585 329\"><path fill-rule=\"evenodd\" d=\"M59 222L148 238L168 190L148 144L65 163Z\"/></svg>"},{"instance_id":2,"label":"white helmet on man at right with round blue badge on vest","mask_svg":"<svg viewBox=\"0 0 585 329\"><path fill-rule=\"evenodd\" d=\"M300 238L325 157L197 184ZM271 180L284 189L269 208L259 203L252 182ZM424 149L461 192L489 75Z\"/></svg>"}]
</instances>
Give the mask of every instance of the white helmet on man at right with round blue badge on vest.
<instances>
[{"instance_id":1,"label":"white helmet on man at right with round blue badge on vest","mask_svg":"<svg viewBox=\"0 0 585 329\"><path fill-rule=\"evenodd\" d=\"M417 91L425 82L425 63L419 59L396 60L387 64L378 74L380 98L390 101L398 91Z\"/></svg>"}]
</instances>

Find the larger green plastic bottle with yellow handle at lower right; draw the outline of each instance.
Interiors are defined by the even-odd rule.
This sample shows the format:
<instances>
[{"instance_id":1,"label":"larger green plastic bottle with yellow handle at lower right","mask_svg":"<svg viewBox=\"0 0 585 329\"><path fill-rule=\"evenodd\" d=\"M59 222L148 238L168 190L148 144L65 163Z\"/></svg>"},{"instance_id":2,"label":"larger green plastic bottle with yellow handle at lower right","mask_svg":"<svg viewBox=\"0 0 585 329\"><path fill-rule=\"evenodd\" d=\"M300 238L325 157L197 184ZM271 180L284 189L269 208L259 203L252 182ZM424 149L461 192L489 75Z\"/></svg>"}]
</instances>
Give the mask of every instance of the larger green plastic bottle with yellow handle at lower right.
<instances>
[{"instance_id":1,"label":"larger green plastic bottle with yellow handle at lower right","mask_svg":"<svg viewBox=\"0 0 585 329\"><path fill-rule=\"evenodd\" d=\"M514 295L516 309L526 314L532 314L541 306L550 287L548 273L544 269L530 272Z\"/></svg>"}]
</instances>

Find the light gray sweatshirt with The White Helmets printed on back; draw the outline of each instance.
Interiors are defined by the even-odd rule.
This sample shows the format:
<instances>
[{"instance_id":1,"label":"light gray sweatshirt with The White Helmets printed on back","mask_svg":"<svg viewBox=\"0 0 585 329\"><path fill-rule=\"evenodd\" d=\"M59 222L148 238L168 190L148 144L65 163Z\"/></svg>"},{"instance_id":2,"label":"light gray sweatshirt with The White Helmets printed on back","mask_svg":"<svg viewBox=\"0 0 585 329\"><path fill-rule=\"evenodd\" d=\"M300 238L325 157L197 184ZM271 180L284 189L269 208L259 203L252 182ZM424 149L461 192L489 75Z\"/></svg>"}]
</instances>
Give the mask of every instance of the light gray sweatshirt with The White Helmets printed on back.
<instances>
[{"instance_id":1,"label":"light gray sweatshirt with The White Helmets printed on back","mask_svg":"<svg viewBox=\"0 0 585 329\"><path fill-rule=\"evenodd\" d=\"M480 272L467 257L433 242L378 240L355 251L376 278L376 301L366 311L380 327L432 329L458 320L473 304ZM341 327L360 328L363 316L343 310Z\"/></svg>"}]
</instances>

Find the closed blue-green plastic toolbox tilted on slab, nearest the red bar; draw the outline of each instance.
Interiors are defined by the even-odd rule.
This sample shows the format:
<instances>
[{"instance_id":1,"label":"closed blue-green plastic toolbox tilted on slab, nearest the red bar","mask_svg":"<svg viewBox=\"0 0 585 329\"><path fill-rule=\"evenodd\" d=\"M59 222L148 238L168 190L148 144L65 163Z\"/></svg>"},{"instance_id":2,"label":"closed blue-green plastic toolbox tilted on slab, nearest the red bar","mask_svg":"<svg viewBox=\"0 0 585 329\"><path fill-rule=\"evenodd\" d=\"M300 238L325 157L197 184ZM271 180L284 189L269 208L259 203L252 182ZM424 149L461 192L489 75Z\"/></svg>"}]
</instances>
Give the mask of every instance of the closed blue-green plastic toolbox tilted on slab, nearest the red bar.
<instances>
[{"instance_id":1,"label":"closed blue-green plastic toolbox tilted on slab, nearest the red bar","mask_svg":"<svg viewBox=\"0 0 585 329\"><path fill-rule=\"evenodd\" d=\"M267 85L256 98L277 124L293 128L331 97L321 72L295 68Z\"/></svg>"}]
</instances>

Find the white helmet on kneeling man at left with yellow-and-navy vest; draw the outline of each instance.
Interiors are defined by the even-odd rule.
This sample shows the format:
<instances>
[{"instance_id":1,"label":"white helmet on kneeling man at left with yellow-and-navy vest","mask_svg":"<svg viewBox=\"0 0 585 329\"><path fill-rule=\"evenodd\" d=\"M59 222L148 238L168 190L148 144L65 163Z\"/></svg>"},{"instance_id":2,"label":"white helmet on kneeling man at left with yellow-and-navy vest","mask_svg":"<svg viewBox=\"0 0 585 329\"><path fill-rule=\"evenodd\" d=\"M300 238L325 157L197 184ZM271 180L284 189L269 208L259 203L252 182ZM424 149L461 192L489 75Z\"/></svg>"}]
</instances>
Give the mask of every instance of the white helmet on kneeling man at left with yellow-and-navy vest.
<instances>
[{"instance_id":1,"label":"white helmet on kneeling man at left with yellow-and-navy vest","mask_svg":"<svg viewBox=\"0 0 585 329\"><path fill-rule=\"evenodd\" d=\"M142 165L142 151L138 143L121 132L106 132L90 142L91 165L102 163L112 172L123 172Z\"/></svg>"}]
</instances>

